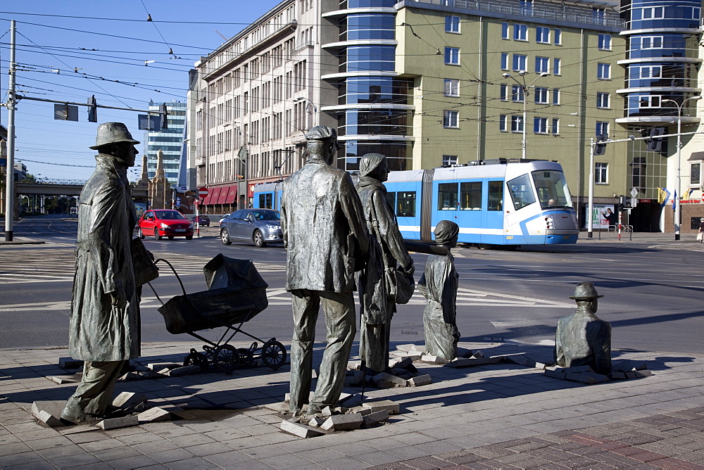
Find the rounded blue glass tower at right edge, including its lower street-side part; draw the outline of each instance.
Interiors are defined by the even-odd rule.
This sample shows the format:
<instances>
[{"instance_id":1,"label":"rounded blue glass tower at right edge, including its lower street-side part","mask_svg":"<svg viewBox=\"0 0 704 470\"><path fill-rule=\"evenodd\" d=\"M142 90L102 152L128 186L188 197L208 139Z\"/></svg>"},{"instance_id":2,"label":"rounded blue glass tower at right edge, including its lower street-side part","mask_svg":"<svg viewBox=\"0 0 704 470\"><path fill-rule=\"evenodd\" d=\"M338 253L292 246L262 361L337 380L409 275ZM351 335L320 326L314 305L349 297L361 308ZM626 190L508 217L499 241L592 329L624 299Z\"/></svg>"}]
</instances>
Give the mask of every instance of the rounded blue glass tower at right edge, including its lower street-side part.
<instances>
[{"instance_id":1,"label":"rounded blue glass tower at right edge, including its lower street-side part","mask_svg":"<svg viewBox=\"0 0 704 470\"><path fill-rule=\"evenodd\" d=\"M616 120L627 134L648 136L677 133L681 115L682 132L696 130L701 2L684 0L624 0L622 15L627 39L626 57L618 63L625 69L623 118ZM684 140L689 136L684 137ZM668 141L671 141L668 146ZM667 229L661 217L658 188L676 189L676 137L663 139L648 148L645 141L629 144L628 181L646 202L634 213L638 229ZM659 220L659 222L658 222Z\"/></svg>"}]
</instances>

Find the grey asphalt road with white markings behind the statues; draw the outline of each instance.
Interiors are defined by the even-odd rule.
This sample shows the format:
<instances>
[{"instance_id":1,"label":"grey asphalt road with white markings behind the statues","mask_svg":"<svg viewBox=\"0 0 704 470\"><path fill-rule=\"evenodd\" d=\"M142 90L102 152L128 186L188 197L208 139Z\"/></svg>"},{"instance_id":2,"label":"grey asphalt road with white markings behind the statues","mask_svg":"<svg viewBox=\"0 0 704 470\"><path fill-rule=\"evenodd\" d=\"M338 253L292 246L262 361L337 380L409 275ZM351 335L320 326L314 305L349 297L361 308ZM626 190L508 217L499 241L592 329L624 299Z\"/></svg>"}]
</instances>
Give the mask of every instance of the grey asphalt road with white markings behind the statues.
<instances>
[{"instance_id":1,"label":"grey asphalt road with white markings behind the statues","mask_svg":"<svg viewBox=\"0 0 704 470\"><path fill-rule=\"evenodd\" d=\"M68 315L73 286L75 216L28 217L15 224L15 238L46 241L41 245L0 245L0 348L29 348L68 343ZM223 246L216 228L186 241L146 239L147 249L169 260L188 293L206 289L202 267L218 253L252 259L269 284L270 306L242 326L254 336L288 341L291 304L284 290L286 253L281 246L255 248L245 243ZM611 234L612 235L612 234ZM634 238L637 238L634 236ZM457 248L460 274L458 329L462 341L551 343L558 318L574 310L572 295L580 281L593 281L600 299L598 316L613 326L612 347L673 354L704 353L704 246L692 241L653 237L617 242L580 240L572 246L540 246L517 251ZM414 254L416 279L426 255ZM162 268L152 282L162 300L180 293L173 274ZM422 310L416 294L399 305L391 340L422 343ZM184 341L166 331L161 305L145 288L142 339ZM319 322L318 340L325 340ZM220 331L201 332L215 337ZM247 339L236 336L235 340ZM201 341L193 339L194 348Z\"/></svg>"}]
</instances>

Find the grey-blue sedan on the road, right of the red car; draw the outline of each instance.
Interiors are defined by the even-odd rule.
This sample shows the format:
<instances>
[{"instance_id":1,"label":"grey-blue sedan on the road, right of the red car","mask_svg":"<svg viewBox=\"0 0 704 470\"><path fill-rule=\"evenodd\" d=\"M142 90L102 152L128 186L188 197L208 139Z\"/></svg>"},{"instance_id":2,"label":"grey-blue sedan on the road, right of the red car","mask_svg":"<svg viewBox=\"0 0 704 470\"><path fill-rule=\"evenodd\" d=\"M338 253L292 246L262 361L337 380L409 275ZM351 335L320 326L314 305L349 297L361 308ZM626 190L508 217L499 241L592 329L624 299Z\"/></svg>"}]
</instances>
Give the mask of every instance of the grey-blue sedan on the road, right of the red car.
<instances>
[{"instance_id":1,"label":"grey-blue sedan on the road, right of the red car","mask_svg":"<svg viewBox=\"0 0 704 470\"><path fill-rule=\"evenodd\" d=\"M220 222L220 241L230 245L233 241L251 241L258 248L268 243L284 243L281 217L278 210L236 210Z\"/></svg>"}]
</instances>

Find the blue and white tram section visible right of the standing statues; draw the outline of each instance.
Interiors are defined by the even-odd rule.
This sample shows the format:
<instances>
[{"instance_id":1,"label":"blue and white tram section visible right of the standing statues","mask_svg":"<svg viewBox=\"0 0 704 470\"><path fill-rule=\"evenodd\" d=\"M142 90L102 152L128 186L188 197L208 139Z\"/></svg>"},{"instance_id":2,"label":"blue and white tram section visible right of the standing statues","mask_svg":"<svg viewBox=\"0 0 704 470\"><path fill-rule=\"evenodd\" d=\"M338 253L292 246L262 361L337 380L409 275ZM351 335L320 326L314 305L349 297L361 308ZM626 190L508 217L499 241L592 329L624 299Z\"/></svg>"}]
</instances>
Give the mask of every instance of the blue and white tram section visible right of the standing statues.
<instances>
[{"instance_id":1,"label":"blue and white tram section visible right of the standing statues","mask_svg":"<svg viewBox=\"0 0 704 470\"><path fill-rule=\"evenodd\" d=\"M576 243L577 217L560 164L484 160L479 165L391 172L386 197L406 239L431 241L441 220L477 245Z\"/></svg>"}]
</instances>

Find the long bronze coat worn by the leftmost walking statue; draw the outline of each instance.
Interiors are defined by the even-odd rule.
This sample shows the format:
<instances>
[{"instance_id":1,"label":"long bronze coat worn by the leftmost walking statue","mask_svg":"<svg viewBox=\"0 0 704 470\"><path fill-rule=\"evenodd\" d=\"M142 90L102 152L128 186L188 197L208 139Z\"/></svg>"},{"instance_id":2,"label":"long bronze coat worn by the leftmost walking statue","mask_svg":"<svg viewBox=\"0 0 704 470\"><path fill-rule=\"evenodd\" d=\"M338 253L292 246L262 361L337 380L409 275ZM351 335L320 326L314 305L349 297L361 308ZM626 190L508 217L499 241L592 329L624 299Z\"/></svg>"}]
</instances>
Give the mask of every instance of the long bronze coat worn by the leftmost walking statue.
<instances>
[{"instance_id":1,"label":"long bronze coat worn by the leftmost walking statue","mask_svg":"<svg viewBox=\"0 0 704 470\"><path fill-rule=\"evenodd\" d=\"M137 222L125 170L96 156L81 191L69 350L75 359L121 361L139 357L139 301L130 243ZM111 292L127 303L113 307Z\"/></svg>"}]
</instances>

